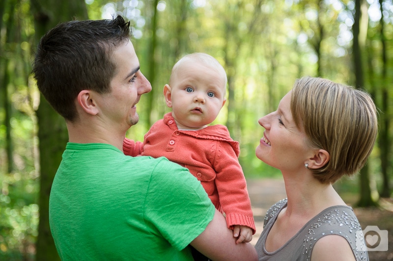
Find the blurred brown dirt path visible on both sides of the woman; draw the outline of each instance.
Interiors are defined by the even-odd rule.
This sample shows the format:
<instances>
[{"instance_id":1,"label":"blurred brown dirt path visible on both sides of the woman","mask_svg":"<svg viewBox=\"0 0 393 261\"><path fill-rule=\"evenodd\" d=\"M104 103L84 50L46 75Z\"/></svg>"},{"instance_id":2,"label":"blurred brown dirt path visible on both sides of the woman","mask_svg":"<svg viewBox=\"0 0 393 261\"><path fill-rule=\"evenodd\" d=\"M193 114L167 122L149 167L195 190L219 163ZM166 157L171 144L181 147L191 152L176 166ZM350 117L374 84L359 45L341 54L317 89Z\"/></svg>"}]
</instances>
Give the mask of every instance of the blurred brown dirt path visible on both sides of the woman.
<instances>
[{"instance_id":1,"label":"blurred brown dirt path visible on both sides of the woman","mask_svg":"<svg viewBox=\"0 0 393 261\"><path fill-rule=\"evenodd\" d=\"M277 201L286 198L286 193L282 179L248 179L247 188L256 226L256 233L251 243L255 245L262 232L266 211ZM369 251L370 261L393 260L393 204L385 202L385 205L389 205L390 208L386 206L385 209L354 208L364 230L367 226L378 226L380 230L388 231L388 251Z\"/></svg>"}]
</instances>

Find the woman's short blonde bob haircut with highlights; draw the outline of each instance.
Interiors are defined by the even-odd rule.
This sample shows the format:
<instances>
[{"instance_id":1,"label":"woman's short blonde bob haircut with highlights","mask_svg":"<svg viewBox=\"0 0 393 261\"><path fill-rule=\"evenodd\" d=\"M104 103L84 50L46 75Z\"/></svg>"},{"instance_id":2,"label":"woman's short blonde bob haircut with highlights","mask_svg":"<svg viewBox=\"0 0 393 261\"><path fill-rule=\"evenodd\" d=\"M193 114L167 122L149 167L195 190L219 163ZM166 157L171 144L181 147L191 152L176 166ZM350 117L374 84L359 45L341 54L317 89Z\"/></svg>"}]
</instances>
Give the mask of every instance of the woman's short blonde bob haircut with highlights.
<instances>
[{"instance_id":1,"label":"woman's short blonde bob haircut with highlights","mask_svg":"<svg viewBox=\"0 0 393 261\"><path fill-rule=\"evenodd\" d=\"M378 132L377 110L368 93L323 78L297 79L291 111L309 145L326 150L330 160L312 169L321 183L335 183L364 165Z\"/></svg>"}]
</instances>

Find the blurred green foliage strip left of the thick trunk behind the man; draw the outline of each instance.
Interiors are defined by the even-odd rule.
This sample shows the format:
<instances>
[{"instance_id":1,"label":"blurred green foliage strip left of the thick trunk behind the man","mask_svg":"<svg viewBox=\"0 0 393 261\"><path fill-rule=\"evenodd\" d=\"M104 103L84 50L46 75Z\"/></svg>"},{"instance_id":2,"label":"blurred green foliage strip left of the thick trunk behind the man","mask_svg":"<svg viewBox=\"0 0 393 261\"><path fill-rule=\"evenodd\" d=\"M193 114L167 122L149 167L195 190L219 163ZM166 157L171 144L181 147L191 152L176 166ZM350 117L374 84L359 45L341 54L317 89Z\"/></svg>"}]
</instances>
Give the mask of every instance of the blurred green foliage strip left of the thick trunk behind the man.
<instances>
[{"instance_id":1,"label":"blurred green foliage strip left of the thick trunk behind the man","mask_svg":"<svg viewBox=\"0 0 393 261\"><path fill-rule=\"evenodd\" d=\"M1 83L6 77L9 81L0 84L8 90L7 97L0 97L0 260L34 260L39 218L33 98L37 92L27 86L34 29L29 1L5 2L4 13L0 13L4 22L1 24L0 79ZM11 104L8 108L2 105L6 99ZM5 121L7 109L9 122ZM11 173L7 171L9 155L5 151L6 145L9 146L5 138L8 134L12 141Z\"/></svg>"}]
</instances>

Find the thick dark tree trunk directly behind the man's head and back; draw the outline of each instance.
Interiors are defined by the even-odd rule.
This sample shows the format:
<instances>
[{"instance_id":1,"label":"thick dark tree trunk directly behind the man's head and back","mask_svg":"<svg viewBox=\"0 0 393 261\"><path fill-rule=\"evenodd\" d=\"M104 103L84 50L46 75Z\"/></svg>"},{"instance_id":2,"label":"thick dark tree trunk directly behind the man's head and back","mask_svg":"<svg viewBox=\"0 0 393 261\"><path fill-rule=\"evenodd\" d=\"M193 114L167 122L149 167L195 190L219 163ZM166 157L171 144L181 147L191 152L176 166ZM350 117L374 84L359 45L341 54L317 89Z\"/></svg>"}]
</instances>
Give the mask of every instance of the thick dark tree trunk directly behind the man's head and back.
<instances>
[{"instance_id":1,"label":"thick dark tree trunk directly behind the man's head and back","mask_svg":"<svg viewBox=\"0 0 393 261\"><path fill-rule=\"evenodd\" d=\"M49 29L60 22L87 19L84 0L31 0L36 43ZM59 260L49 228L49 195L52 182L68 141L64 119L41 95L37 110L40 153L40 220L36 242L36 260Z\"/></svg>"}]
</instances>

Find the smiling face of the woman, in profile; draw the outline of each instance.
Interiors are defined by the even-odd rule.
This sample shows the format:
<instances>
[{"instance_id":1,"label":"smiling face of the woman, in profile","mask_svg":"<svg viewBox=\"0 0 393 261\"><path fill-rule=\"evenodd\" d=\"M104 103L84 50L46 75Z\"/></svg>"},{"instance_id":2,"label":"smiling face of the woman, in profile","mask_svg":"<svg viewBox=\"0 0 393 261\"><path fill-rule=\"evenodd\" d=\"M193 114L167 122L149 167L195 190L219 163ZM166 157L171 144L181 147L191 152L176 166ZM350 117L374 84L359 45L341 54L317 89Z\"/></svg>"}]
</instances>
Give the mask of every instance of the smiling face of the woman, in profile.
<instances>
[{"instance_id":1,"label":"smiling face of the woman, in profile","mask_svg":"<svg viewBox=\"0 0 393 261\"><path fill-rule=\"evenodd\" d=\"M306 135L293 121L290 109L291 92L281 99L276 111L258 121L265 131L256 147L256 157L281 171L304 168L311 151L306 143Z\"/></svg>"}]
</instances>

